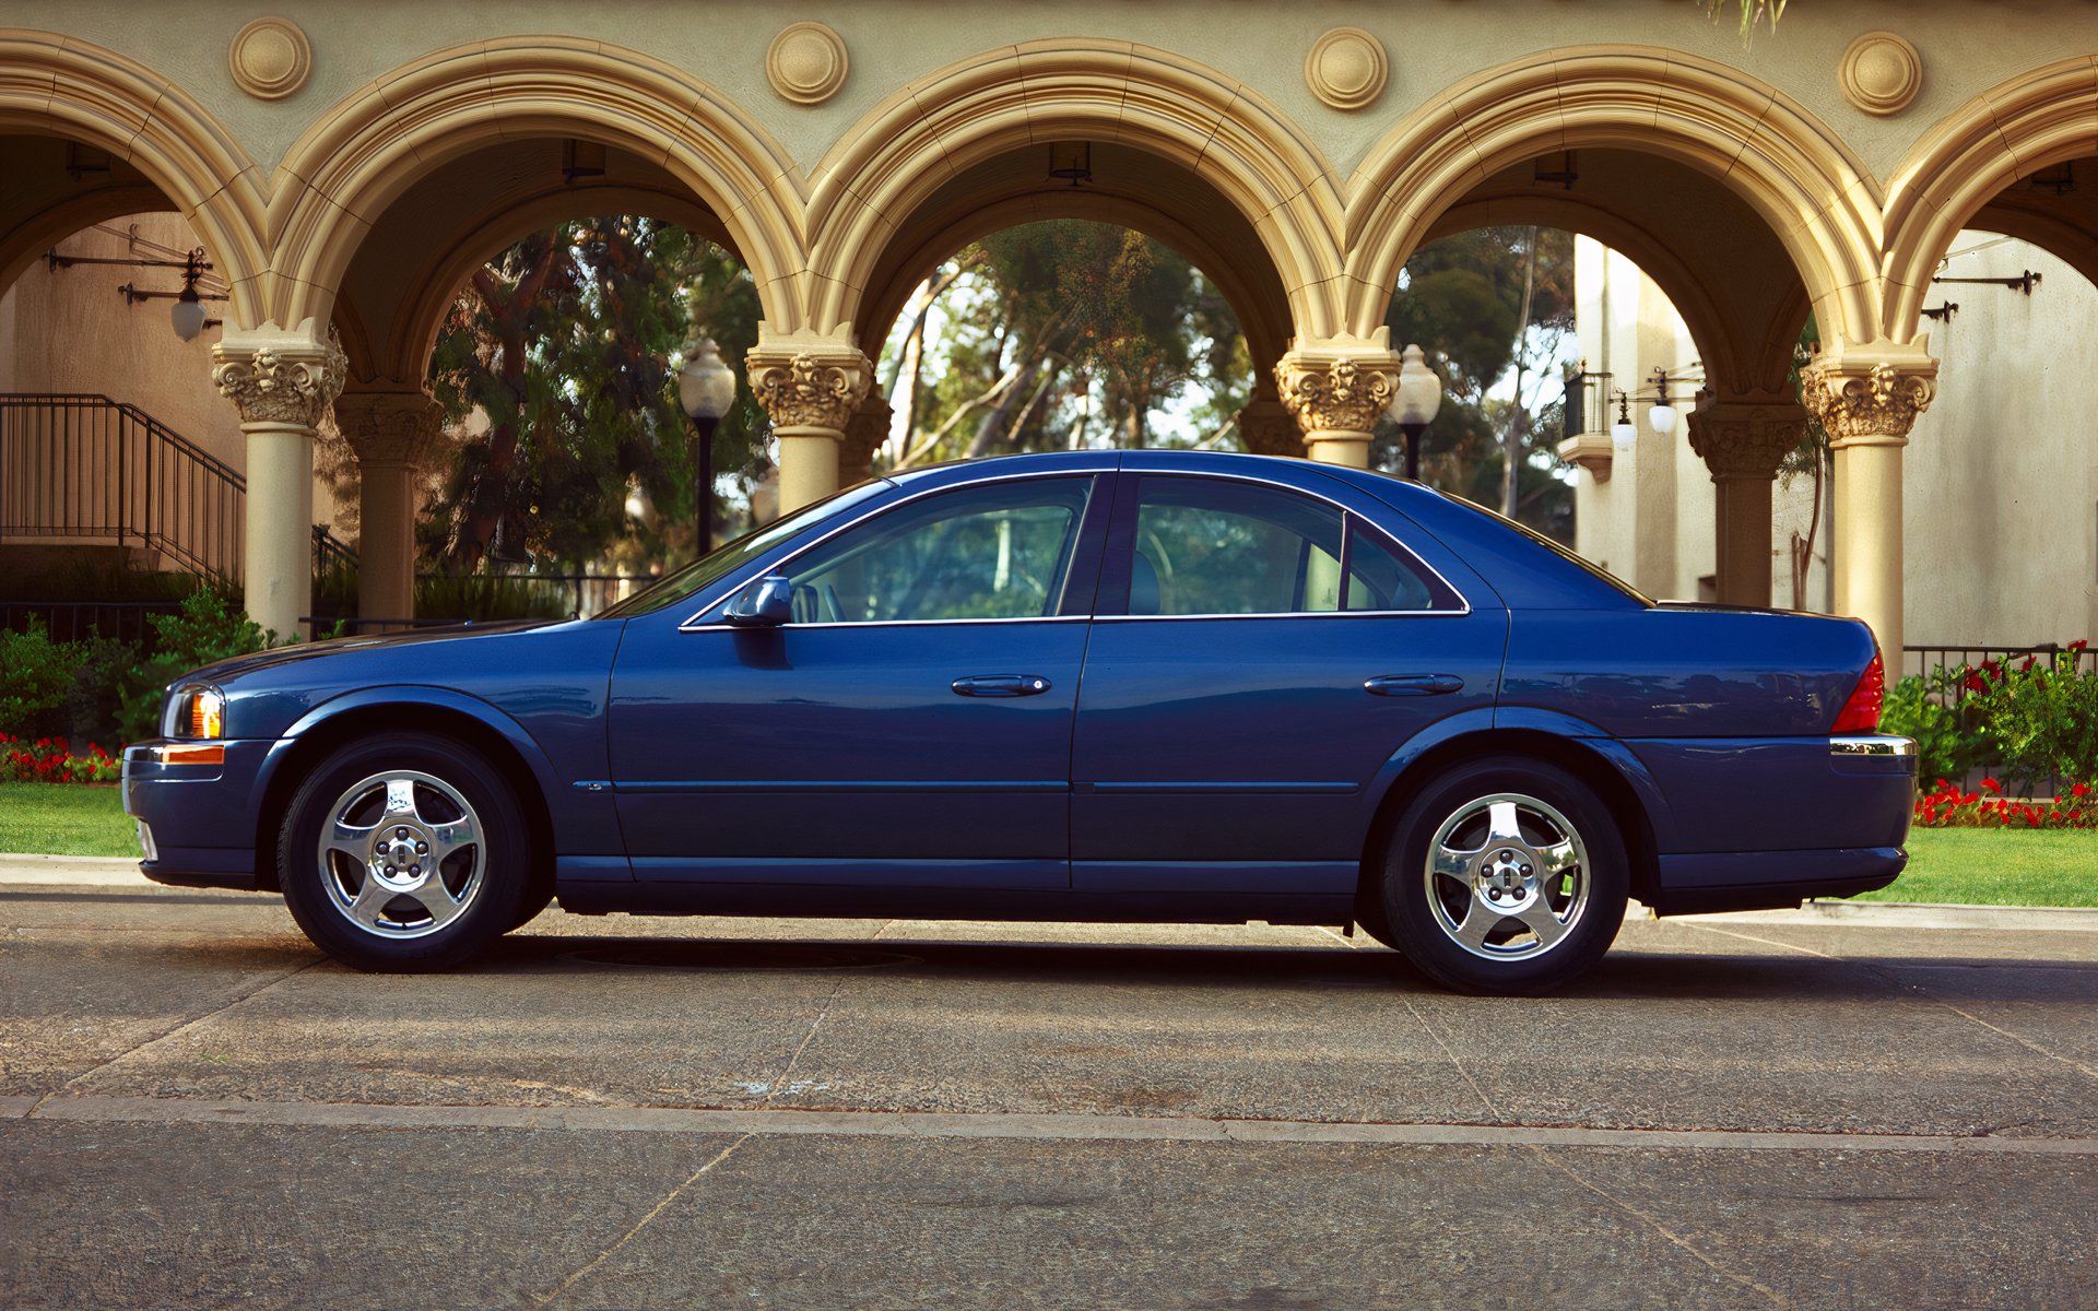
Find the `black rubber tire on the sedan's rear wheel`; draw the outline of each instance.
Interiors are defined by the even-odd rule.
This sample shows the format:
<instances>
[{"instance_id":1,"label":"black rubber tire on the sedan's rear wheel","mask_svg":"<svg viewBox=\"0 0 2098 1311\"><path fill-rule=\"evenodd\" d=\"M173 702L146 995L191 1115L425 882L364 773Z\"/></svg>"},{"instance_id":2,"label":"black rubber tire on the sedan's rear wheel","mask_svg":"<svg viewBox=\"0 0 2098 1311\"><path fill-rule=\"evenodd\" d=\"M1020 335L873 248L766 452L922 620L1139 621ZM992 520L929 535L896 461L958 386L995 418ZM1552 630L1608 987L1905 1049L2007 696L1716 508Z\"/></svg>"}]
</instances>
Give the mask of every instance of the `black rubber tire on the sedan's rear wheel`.
<instances>
[{"instance_id":1,"label":"black rubber tire on the sedan's rear wheel","mask_svg":"<svg viewBox=\"0 0 2098 1311\"><path fill-rule=\"evenodd\" d=\"M1571 915L1571 921L1559 929L1561 936L1550 944L1544 944L1540 931L1515 917L1496 919L1502 915L1498 906L1481 921L1490 925L1487 938L1475 948L1460 944L1458 931L1471 927L1471 921L1464 919L1462 925L1454 921L1460 915L1471 915L1475 894L1469 883L1452 877L1435 879L1435 896L1443 917L1437 917L1435 906L1429 904L1429 850L1435 845L1437 833L1469 810L1490 805L1494 797L1521 797L1542 805L1515 805L1513 814L1523 833L1515 841L1485 839L1479 847L1471 847L1469 843L1477 837L1460 837L1494 826L1492 810L1456 829L1452 841L1460 850L1481 852L1477 862L1467 864L1469 871L1481 871L1481 875L1492 871L1494 877L1506 877L1513 885L1508 889L1494 885L1487 889L1490 896L1506 896L1506 904L1532 910L1538 896L1548 896L1546 910L1553 912L1555 921L1565 921ZM1557 816L1548 812L1557 812ZM1571 833L1555 835L1561 820ZM1584 854L1578 864L1567 868L1567 877L1559 881L1546 873L1532 875L1538 866L1548 868L1546 858L1538 852L1559 847L1565 839L1571 839L1571 850ZM1487 854L1487 847L1494 852ZM1508 860L1500 860L1502 854ZM1536 879L1536 883L1525 879ZM1571 889L1582 885L1586 900L1576 915ZM1542 891L1546 887L1548 894ZM1594 795L1594 789L1559 766L1519 755L1496 755L1452 768L1408 801L1391 829L1391 841L1385 845L1378 891L1395 946L1422 973L1460 992L1527 996L1548 992L1586 973L1609 950L1618 938L1618 925L1624 923L1624 906L1630 896L1630 858L1615 818ZM1487 894L1477 894L1477 906L1487 906ZM1553 929L1553 925L1542 927Z\"/></svg>"}]
</instances>

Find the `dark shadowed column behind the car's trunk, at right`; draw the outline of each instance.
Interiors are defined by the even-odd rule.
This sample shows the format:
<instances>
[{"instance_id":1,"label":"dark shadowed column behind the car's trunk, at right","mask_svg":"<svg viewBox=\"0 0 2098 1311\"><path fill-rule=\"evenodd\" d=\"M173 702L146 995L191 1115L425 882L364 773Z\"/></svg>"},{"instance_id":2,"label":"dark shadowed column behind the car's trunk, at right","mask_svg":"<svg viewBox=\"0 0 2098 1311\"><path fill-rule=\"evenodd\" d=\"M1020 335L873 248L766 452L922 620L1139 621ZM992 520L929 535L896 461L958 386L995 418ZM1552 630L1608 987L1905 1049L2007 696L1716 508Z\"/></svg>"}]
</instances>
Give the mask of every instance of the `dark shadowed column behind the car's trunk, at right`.
<instances>
[{"instance_id":1,"label":"dark shadowed column behind the car's trunk, at right","mask_svg":"<svg viewBox=\"0 0 2098 1311\"><path fill-rule=\"evenodd\" d=\"M1771 489L1785 453L1806 436L1806 409L1771 399L1720 401L1689 413L1691 451L1712 470L1718 600L1771 604Z\"/></svg>"}]
</instances>

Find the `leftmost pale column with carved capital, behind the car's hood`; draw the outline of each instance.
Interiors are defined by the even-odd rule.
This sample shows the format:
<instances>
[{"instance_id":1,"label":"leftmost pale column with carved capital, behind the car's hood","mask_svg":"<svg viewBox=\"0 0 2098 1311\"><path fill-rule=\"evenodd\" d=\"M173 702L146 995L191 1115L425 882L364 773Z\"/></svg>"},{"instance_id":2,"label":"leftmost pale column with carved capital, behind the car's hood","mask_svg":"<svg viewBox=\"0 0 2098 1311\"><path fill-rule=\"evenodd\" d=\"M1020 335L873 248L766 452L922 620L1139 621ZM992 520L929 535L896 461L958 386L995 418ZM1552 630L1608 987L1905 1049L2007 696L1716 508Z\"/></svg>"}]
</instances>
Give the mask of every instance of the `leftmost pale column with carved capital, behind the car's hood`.
<instances>
[{"instance_id":1,"label":"leftmost pale column with carved capital, behind the car's hood","mask_svg":"<svg viewBox=\"0 0 2098 1311\"><path fill-rule=\"evenodd\" d=\"M279 640L313 606L313 434L342 390L342 348L311 331L227 334L212 382L248 438L248 615Z\"/></svg>"}]
</instances>

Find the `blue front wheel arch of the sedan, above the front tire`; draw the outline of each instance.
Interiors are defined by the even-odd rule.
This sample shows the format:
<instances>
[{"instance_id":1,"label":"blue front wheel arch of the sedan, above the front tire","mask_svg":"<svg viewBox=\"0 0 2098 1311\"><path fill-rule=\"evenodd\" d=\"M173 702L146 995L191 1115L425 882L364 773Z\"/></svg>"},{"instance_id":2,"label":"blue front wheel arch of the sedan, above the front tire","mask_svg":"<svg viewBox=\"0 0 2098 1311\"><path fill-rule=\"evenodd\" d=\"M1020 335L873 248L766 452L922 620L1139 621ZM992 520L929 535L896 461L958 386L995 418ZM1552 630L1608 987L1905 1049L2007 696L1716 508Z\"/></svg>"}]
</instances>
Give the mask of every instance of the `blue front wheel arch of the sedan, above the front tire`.
<instances>
[{"instance_id":1,"label":"blue front wheel arch of the sedan, above the front tire","mask_svg":"<svg viewBox=\"0 0 2098 1311\"><path fill-rule=\"evenodd\" d=\"M388 728L453 736L480 751L524 812L533 883L554 885L552 766L531 734L493 705L443 688L365 688L308 711L264 761L256 780L256 887L281 891L277 829L300 780L336 747Z\"/></svg>"}]
</instances>

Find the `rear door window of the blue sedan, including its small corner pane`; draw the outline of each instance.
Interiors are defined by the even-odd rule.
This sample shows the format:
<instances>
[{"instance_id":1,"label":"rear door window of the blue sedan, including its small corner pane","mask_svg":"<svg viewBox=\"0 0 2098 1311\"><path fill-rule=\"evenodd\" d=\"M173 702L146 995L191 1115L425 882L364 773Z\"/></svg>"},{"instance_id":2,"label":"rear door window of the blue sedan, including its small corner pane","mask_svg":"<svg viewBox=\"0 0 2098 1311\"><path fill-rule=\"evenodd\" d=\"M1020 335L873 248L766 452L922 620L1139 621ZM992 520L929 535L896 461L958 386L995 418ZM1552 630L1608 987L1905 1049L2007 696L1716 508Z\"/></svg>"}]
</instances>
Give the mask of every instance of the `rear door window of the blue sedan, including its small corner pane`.
<instances>
[{"instance_id":1,"label":"rear door window of the blue sedan, including its small corner pane","mask_svg":"<svg viewBox=\"0 0 2098 1311\"><path fill-rule=\"evenodd\" d=\"M1315 497L1225 478L1137 485L1129 615L1435 610L1439 596L1380 533Z\"/></svg>"}]
</instances>

